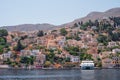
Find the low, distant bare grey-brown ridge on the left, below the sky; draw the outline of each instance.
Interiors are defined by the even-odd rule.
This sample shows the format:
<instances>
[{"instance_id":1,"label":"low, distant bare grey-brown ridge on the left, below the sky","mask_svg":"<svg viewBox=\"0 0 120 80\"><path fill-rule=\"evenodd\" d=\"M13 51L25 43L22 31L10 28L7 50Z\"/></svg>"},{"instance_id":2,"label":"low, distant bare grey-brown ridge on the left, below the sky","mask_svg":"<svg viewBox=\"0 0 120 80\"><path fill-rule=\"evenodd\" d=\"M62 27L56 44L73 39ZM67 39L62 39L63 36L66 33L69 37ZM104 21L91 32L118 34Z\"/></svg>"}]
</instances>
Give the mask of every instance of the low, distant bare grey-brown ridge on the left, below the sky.
<instances>
[{"instance_id":1,"label":"low, distant bare grey-brown ridge on the left, below the sky","mask_svg":"<svg viewBox=\"0 0 120 80\"><path fill-rule=\"evenodd\" d=\"M35 30L52 30L56 26L51 24L21 24L16 26L4 26L0 27L2 29L7 29L8 31L35 31Z\"/></svg>"}]
</instances>

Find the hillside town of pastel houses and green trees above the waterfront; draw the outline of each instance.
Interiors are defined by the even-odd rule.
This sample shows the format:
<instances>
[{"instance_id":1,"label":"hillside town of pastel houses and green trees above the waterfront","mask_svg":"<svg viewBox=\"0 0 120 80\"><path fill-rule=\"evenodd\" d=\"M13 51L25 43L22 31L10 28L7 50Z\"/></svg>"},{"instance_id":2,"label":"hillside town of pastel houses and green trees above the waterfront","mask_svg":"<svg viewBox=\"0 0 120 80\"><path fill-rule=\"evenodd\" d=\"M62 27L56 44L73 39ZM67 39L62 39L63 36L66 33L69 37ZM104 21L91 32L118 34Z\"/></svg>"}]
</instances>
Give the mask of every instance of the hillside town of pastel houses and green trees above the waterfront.
<instances>
[{"instance_id":1,"label":"hillside town of pastel houses and green trees above the waterfront","mask_svg":"<svg viewBox=\"0 0 120 80\"><path fill-rule=\"evenodd\" d=\"M0 67L79 68L82 60L100 68L120 67L120 17L48 31L0 29Z\"/></svg>"}]
</instances>

